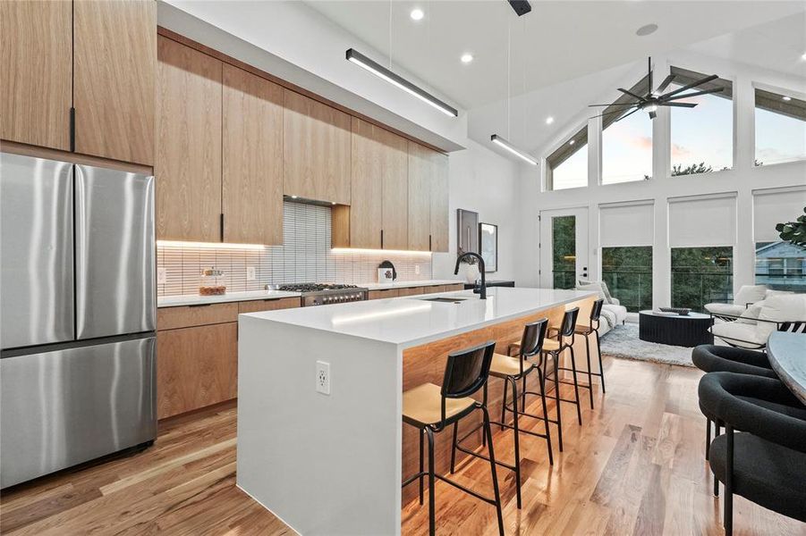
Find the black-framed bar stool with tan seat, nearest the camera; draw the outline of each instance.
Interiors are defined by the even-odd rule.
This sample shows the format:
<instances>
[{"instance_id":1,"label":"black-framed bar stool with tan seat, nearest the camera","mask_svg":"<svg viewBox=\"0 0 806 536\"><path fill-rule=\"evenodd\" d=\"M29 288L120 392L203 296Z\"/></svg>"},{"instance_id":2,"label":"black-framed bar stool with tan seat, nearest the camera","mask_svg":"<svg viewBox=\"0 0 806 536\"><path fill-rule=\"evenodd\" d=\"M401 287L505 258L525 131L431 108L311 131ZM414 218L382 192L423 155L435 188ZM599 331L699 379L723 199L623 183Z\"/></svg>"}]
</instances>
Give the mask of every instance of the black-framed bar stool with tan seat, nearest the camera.
<instances>
[{"instance_id":1,"label":"black-framed bar stool with tan seat, nearest the camera","mask_svg":"<svg viewBox=\"0 0 806 536\"><path fill-rule=\"evenodd\" d=\"M436 532L435 478L495 506L498 515L498 533L504 536L504 517L501 514L501 496L498 492L496 456L493 452L493 436L490 431L487 410L487 389L483 389L484 396L480 402L471 398L471 395L479 389L487 387L489 367L495 349L496 342L491 340L477 347L454 352L448 355L447 364L445 364L445 378L441 388L433 383L423 383L403 393L403 423L420 429L420 472L404 480L403 487L419 480L421 505L423 501L422 479L428 476L428 533L432 536ZM495 498L480 495L434 471L434 432L445 430L449 424L458 423L459 420L471 415L477 409L481 410L483 416L482 426L487 437ZM428 471L423 471L423 435L428 437Z\"/></svg>"}]
</instances>

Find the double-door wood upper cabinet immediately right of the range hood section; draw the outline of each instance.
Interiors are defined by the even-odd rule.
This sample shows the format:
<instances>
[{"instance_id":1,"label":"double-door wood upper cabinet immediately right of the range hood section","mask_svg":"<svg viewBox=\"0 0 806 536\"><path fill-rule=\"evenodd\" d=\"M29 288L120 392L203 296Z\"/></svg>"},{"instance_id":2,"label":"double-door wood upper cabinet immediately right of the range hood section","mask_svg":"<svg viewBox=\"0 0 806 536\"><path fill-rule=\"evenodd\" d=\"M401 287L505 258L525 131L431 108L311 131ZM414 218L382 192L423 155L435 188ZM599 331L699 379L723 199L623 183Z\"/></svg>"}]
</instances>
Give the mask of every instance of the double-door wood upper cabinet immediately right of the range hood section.
<instances>
[{"instance_id":1,"label":"double-door wood upper cabinet immediately right of the range hood section","mask_svg":"<svg viewBox=\"0 0 806 536\"><path fill-rule=\"evenodd\" d=\"M352 118L351 247L408 247L406 140Z\"/></svg>"}]
</instances>

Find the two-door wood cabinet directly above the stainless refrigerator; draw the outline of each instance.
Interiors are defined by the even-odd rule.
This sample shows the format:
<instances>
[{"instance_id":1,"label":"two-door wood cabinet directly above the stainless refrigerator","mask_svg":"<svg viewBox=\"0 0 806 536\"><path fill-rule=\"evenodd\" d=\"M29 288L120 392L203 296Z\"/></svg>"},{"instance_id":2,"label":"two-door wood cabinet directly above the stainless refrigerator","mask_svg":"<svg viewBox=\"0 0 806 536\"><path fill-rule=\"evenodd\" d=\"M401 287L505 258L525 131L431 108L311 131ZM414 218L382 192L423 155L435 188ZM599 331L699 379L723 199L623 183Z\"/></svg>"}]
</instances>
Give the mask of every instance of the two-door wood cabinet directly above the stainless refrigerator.
<instances>
[{"instance_id":1,"label":"two-door wood cabinet directly above the stainless refrigerator","mask_svg":"<svg viewBox=\"0 0 806 536\"><path fill-rule=\"evenodd\" d=\"M0 2L0 138L152 165L156 32L151 0Z\"/></svg>"}]
</instances>

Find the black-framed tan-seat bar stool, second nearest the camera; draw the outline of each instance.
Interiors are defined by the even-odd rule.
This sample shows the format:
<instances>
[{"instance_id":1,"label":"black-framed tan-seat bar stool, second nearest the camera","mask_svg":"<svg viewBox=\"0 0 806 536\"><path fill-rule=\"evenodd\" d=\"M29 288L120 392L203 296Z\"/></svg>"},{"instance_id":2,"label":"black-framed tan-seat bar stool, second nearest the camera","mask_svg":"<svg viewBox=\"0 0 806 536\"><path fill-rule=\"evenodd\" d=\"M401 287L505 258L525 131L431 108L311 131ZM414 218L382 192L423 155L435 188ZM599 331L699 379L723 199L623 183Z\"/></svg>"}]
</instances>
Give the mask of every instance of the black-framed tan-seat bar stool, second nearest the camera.
<instances>
[{"instance_id":1,"label":"black-framed tan-seat bar stool, second nearest the camera","mask_svg":"<svg viewBox=\"0 0 806 536\"><path fill-rule=\"evenodd\" d=\"M548 319L543 318L537 322L531 322L526 324L523 328L523 336L521 339L521 346L520 352L518 357L511 357L511 356L503 356L501 354L494 354L492 364L490 364L489 373L490 376L495 376L496 378L501 378L505 381L504 383L504 398L502 400L502 408L501 408L501 421L490 421L492 424L499 425L502 430L506 427L510 430L514 431L514 454L515 454L515 461L514 465L506 464L500 460L496 460L497 465L501 465L502 467L506 467L510 471L515 473L515 482L517 485L516 488L516 497L518 502L518 507L521 507L521 446L520 446L520 439L519 436L521 433L528 433L530 435L544 438L547 443L548 447L548 463L554 465L554 454L552 453L551 449L551 431L548 429L548 422L547 422L547 409L546 409L546 396L545 393L545 383L543 381L543 372L541 370L542 363L535 364L528 361L528 358L531 356L542 356L541 350L543 348L543 340L546 338L546 328L548 325ZM540 390L541 390L541 398L543 401L543 415L530 415L530 414L522 414L518 411L518 399L520 395L518 394L518 381L525 380L526 376L529 375L532 371L537 370L539 374L539 383L540 383ZM506 403L506 394L507 394L507 387L512 385L513 389L513 402L512 407L507 406ZM487 386L485 386L487 389ZM536 393L534 393L536 394ZM506 410L509 410L513 413L513 423L507 424L506 423ZM528 431L528 430L521 430L518 427L518 415L527 415L536 419L542 419L546 423L546 432L539 433L536 431ZM454 473L455 465L456 465L456 449L458 448L465 454L469 454L471 456L480 457L483 459L488 460L487 456L483 454L479 454L478 452L474 452L468 448L462 447L462 441L469 438L473 433L479 430L481 425L475 426L471 431L468 431L461 440L456 439L456 435L458 432L458 423L454 423L454 445L451 450L451 473Z\"/></svg>"}]
</instances>

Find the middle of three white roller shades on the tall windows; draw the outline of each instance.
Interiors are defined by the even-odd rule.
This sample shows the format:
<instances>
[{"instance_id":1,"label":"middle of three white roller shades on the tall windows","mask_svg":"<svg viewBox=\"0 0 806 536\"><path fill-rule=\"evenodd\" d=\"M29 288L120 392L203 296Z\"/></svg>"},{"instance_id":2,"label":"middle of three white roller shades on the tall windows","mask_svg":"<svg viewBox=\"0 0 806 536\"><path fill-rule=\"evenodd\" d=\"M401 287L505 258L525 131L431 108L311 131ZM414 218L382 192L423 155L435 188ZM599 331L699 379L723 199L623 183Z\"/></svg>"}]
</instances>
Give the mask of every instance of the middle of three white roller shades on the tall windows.
<instances>
[{"instance_id":1,"label":"middle of three white roller shades on the tall windows","mask_svg":"<svg viewBox=\"0 0 806 536\"><path fill-rule=\"evenodd\" d=\"M669 199L669 246L736 244L736 194Z\"/></svg>"}]
</instances>

